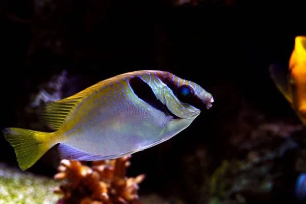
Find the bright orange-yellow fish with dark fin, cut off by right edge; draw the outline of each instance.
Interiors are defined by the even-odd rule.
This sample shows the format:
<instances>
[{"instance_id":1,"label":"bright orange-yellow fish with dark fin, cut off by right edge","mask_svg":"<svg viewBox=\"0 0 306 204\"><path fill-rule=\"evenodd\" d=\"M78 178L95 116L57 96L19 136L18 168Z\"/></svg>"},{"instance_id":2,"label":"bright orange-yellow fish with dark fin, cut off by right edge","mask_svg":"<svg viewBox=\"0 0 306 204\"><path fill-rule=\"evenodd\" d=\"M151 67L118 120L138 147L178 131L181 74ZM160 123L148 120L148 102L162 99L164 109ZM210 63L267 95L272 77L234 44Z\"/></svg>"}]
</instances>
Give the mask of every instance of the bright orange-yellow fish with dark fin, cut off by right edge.
<instances>
[{"instance_id":1,"label":"bright orange-yellow fish with dark fin, cut off by right edge","mask_svg":"<svg viewBox=\"0 0 306 204\"><path fill-rule=\"evenodd\" d=\"M277 89L306 125L306 36L295 37L288 72L274 64L270 65L269 71Z\"/></svg>"}]
</instances>

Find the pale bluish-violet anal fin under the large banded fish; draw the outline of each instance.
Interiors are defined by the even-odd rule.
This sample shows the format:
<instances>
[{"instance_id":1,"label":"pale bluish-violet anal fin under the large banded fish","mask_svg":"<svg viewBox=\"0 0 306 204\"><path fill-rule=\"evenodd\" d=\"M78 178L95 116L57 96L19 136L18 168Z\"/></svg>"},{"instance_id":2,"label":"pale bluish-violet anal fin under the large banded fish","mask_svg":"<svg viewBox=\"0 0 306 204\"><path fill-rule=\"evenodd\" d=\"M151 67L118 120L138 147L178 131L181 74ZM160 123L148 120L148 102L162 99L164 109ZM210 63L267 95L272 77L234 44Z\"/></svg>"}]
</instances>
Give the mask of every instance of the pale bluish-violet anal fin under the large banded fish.
<instances>
[{"instance_id":1,"label":"pale bluish-violet anal fin under the large banded fish","mask_svg":"<svg viewBox=\"0 0 306 204\"><path fill-rule=\"evenodd\" d=\"M60 158L67 160L99 161L99 160L109 160L117 158L116 155L110 155L110 156L90 155L78 149L72 148L65 143L60 143L60 145L58 146L58 151L60 153Z\"/></svg>"}]
</instances>

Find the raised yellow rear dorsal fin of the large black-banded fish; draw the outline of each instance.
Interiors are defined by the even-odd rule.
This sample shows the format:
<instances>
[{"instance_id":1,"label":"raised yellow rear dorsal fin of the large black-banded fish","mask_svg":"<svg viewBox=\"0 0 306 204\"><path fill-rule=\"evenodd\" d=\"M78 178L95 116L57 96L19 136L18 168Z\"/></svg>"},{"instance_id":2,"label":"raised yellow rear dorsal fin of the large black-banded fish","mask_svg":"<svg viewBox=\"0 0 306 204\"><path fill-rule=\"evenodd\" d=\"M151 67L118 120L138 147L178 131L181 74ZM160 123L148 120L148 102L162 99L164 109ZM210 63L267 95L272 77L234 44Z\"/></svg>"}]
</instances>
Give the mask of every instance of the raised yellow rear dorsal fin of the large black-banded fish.
<instances>
[{"instance_id":1,"label":"raised yellow rear dorsal fin of the large black-banded fish","mask_svg":"<svg viewBox=\"0 0 306 204\"><path fill-rule=\"evenodd\" d=\"M80 98L62 99L47 103L38 117L44 120L52 130L58 130L66 120Z\"/></svg>"}]
</instances>

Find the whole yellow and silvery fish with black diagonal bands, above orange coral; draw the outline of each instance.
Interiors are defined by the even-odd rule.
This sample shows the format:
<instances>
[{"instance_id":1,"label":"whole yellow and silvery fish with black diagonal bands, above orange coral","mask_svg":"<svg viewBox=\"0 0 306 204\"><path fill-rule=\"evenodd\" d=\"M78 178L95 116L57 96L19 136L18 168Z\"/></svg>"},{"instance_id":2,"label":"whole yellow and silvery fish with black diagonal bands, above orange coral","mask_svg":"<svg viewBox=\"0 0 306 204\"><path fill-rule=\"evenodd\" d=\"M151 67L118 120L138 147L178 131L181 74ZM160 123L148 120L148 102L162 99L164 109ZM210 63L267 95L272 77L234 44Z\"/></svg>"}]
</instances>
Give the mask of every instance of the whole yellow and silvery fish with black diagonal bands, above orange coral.
<instances>
[{"instance_id":1,"label":"whole yellow and silvery fish with black diagonal bands, above orange coral","mask_svg":"<svg viewBox=\"0 0 306 204\"><path fill-rule=\"evenodd\" d=\"M47 103L38 117L54 132L17 127L2 132L21 170L56 144L61 159L117 159L179 134L213 101L198 84L170 72L133 71Z\"/></svg>"}]
</instances>

